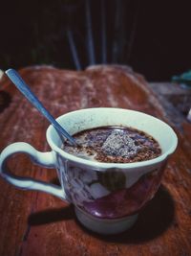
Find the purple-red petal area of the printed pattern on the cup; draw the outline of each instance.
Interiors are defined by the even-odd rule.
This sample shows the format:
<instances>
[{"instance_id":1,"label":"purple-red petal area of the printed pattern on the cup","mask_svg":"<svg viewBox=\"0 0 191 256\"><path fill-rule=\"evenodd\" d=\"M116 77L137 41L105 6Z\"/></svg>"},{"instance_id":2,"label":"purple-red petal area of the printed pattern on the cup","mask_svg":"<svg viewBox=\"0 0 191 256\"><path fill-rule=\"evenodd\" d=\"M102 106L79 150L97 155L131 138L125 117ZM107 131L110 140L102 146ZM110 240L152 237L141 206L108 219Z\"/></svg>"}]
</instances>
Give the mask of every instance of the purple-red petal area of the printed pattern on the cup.
<instances>
[{"instance_id":1,"label":"purple-red petal area of the printed pattern on the cup","mask_svg":"<svg viewBox=\"0 0 191 256\"><path fill-rule=\"evenodd\" d=\"M137 213L159 189L163 169L142 175L129 188L119 189L93 202L84 201L89 214L103 219L117 219Z\"/></svg>"}]
</instances>

